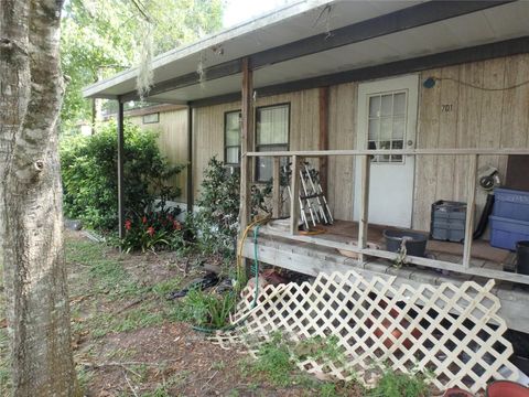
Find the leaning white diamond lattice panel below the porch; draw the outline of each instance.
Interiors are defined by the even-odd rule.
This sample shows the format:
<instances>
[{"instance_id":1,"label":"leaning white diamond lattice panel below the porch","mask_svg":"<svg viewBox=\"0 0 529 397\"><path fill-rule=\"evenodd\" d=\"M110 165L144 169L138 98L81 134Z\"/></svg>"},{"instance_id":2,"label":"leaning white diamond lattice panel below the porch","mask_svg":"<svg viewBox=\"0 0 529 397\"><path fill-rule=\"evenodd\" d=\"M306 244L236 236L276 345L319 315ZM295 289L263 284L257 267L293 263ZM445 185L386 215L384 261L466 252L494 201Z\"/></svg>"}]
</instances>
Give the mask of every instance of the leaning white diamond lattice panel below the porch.
<instances>
[{"instance_id":1,"label":"leaning white diamond lattice panel below the porch","mask_svg":"<svg viewBox=\"0 0 529 397\"><path fill-rule=\"evenodd\" d=\"M382 363L404 373L428 368L440 389L476 393L490 378L516 379L493 280L483 287L467 281L419 288L393 281L367 280L354 271L320 273L313 283L267 286L253 309L253 292L245 290L234 320L240 326L213 339L225 348L244 343L255 354L273 331L293 341L335 335L345 360L306 360L299 366L345 380L360 376L366 384L374 365Z\"/></svg>"}]
</instances>

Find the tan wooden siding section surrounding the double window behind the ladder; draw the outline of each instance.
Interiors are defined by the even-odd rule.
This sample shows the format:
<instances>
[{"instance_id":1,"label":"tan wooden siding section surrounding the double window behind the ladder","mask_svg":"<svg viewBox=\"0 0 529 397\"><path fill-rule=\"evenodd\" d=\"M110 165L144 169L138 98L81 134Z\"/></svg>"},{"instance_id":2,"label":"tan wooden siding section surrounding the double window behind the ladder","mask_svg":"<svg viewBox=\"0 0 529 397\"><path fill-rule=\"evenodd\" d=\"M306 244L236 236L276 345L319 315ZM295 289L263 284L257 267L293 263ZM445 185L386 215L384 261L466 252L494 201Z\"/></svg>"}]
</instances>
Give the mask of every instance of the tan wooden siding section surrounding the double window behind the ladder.
<instances>
[{"instance_id":1,"label":"tan wooden siding section surrounding the double window behind the ladder","mask_svg":"<svg viewBox=\"0 0 529 397\"><path fill-rule=\"evenodd\" d=\"M256 107L290 104L290 149L316 150L319 144L317 89L257 98ZM240 109L239 103L223 104L194 110L194 168L195 197L199 197L204 169L213 155L224 161L224 114Z\"/></svg>"}]
</instances>

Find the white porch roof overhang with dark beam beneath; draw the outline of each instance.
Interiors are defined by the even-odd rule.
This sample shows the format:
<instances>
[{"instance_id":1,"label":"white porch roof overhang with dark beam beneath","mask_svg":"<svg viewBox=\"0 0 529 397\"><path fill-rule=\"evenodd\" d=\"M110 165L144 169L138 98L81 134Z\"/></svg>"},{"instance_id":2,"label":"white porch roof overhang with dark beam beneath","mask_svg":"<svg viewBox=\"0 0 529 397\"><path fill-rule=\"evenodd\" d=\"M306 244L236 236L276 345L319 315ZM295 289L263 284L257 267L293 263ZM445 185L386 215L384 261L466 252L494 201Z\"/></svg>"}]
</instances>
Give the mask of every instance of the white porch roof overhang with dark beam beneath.
<instances>
[{"instance_id":1,"label":"white porch roof overhang with dark beam beneath","mask_svg":"<svg viewBox=\"0 0 529 397\"><path fill-rule=\"evenodd\" d=\"M147 100L186 104L233 95L240 89L244 57L255 69L253 86L266 90L324 82L328 75L352 81L363 74L346 71L402 66L471 46L488 49L488 57L501 56L503 44L486 44L528 36L528 20L529 1L522 0L300 1L162 54L153 63L154 85ZM527 52L529 40L514 42L514 52ZM122 72L85 88L84 95L137 99L137 68Z\"/></svg>"}]
</instances>

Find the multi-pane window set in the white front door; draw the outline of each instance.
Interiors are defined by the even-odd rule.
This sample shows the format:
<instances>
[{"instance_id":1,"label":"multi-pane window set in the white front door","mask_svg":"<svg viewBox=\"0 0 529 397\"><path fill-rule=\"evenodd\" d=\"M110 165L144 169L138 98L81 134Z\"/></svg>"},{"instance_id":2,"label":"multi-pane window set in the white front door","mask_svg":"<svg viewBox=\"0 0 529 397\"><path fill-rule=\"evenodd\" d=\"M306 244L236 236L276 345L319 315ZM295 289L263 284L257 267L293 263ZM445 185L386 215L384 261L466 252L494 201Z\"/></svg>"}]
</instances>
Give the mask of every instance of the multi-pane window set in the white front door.
<instances>
[{"instance_id":1,"label":"multi-pane window set in the white front door","mask_svg":"<svg viewBox=\"0 0 529 397\"><path fill-rule=\"evenodd\" d=\"M369 149L402 149L406 130L406 92L369 97ZM373 162L402 163L401 154L378 154Z\"/></svg>"}]
</instances>

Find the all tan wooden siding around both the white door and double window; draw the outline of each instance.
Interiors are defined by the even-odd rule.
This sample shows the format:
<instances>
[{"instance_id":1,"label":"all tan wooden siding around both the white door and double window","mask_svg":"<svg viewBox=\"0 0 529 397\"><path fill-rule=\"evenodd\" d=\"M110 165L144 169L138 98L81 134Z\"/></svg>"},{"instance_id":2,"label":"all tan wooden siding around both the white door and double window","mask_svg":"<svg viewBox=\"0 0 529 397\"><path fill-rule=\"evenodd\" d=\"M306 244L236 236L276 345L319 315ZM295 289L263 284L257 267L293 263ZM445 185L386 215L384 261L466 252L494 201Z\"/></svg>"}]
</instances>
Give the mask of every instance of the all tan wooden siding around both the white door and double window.
<instances>
[{"instance_id":1,"label":"all tan wooden siding around both the white door and double window","mask_svg":"<svg viewBox=\"0 0 529 397\"><path fill-rule=\"evenodd\" d=\"M442 78L424 88L428 77ZM529 148L529 54L516 55L420 73L418 148ZM498 90L484 90L461 82ZM358 83L330 88L330 149L355 149ZM315 150L319 144L317 89L258 98L256 106L291 104L290 149ZM449 107L443 106L449 105ZM450 107L451 105L451 107ZM199 192L202 173L210 157L224 160L224 112L239 109L238 103L195 109L194 189ZM429 230L431 204L438 200L466 201L468 161L455 157L419 157L415 162L412 226ZM505 181L507 159L482 157L479 167L499 168ZM328 202L338 219L353 219L354 159L330 158ZM477 216L486 193L478 190Z\"/></svg>"}]
</instances>

